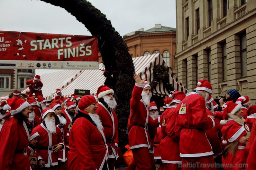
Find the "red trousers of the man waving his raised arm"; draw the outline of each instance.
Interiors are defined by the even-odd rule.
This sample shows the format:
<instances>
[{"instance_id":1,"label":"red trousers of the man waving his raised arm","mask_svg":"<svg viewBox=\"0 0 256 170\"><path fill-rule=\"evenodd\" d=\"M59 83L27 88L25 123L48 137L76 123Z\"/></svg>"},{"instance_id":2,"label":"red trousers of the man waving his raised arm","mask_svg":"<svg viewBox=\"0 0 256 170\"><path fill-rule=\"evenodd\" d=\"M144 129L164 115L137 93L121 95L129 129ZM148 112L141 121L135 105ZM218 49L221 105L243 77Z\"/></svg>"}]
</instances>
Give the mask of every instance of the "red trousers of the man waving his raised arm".
<instances>
[{"instance_id":1,"label":"red trousers of the man waving his raised arm","mask_svg":"<svg viewBox=\"0 0 256 170\"><path fill-rule=\"evenodd\" d=\"M149 150L146 147L131 149L136 170L151 170Z\"/></svg>"}]
</instances>

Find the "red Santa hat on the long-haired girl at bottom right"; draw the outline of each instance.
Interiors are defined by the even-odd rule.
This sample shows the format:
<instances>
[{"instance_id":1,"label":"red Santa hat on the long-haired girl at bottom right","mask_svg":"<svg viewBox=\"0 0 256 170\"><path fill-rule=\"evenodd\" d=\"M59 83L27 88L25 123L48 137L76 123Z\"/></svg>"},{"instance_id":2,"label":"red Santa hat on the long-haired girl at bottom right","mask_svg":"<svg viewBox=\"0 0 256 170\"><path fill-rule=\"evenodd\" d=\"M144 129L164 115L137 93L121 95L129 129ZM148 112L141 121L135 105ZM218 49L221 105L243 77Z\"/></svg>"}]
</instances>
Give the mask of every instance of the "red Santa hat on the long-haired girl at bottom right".
<instances>
[{"instance_id":1,"label":"red Santa hat on the long-haired girl at bottom right","mask_svg":"<svg viewBox=\"0 0 256 170\"><path fill-rule=\"evenodd\" d=\"M230 144L232 142L236 142L241 137L245 136L247 133L243 126L239 126L236 124L230 124L229 126L224 126L221 129L221 133L223 136L223 144Z\"/></svg>"}]
</instances>

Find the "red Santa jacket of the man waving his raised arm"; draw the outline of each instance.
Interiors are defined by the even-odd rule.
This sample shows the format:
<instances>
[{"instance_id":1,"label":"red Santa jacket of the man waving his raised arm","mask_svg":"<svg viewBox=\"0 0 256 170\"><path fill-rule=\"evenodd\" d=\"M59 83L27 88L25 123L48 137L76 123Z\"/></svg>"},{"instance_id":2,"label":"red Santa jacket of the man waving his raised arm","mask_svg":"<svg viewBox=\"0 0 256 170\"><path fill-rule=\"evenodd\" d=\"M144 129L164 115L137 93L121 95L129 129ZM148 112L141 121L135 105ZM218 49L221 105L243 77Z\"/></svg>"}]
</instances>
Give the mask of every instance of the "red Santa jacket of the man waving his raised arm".
<instances>
[{"instance_id":1,"label":"red Santa jacket of the man waving his raised arm","mask_svg":"<svg viewBox=\"0 0 256 170\"><path fill-rule=\"evenodd\" d=\"M141 99L144 84L135 83L130 99L131 113L128 119L130 128L128 138L130 149L148 147L150 148L148 126L157 127L158 119L150 118L148 106ZM154 122L156 122L154 124Z\"/></svg>"}]
</instances>

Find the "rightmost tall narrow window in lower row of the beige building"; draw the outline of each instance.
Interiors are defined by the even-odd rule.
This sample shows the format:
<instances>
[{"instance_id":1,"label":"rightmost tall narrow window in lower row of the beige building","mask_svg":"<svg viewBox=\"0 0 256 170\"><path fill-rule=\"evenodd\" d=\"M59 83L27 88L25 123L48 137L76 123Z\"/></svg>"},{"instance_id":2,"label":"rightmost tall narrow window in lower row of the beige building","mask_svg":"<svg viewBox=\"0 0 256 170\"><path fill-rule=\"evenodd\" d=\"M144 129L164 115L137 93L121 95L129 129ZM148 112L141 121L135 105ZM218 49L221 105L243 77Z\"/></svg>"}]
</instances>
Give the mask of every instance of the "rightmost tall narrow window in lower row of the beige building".
<instances>
[{"instance_id":1,"label":"rightmost tall narrow window in lower row of the beige building","mask_svg":"<svg viewBox=\"0 0 256 170\"><path fill-rule=\"evenodd\" d=\"M247 76L246 33L240 35L241 77Z\"/></svg>"}]
</instances>

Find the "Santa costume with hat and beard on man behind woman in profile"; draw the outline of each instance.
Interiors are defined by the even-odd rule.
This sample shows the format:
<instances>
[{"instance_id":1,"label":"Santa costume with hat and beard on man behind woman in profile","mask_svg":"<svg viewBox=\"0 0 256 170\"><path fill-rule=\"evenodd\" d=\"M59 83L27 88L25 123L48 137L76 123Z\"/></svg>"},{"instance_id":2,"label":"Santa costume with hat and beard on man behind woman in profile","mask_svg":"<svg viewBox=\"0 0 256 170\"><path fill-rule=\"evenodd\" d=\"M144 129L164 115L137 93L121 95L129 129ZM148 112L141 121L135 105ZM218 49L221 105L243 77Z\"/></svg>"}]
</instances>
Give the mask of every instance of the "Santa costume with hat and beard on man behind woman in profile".
<instances>
[{"instance_id":1,"label":"Santa costume with hat and beard on man behind woman in profile","mask_svg":"<svg viewBox=\"0 0 256 170\"><path fill-rule=\"evenodd\" d=\"M108 145L108 151L109 151L109 169L114 169L115 166L115 160L118 159L118 152L117 147L118 143L115 143L115 139L118 139L118 121L117 121L117 115L115 111L113 110L116 107L115 99L106 96L107 94L111 93L114 94L114 90L110 89L107 86L100 86L97 90L97 98L99 102L97 103L97 110L96 114L98 114L101 118L102 126L104 128L104 133L106 135L106 143ZM115 105L111 104L111 106L108 103L112 102ZM113 106L112 106L113 105ZM111 108L112 107L112 108ZM113 160L115 159L115 160Z\"/></svg>"}]
</instances>

